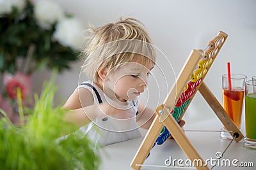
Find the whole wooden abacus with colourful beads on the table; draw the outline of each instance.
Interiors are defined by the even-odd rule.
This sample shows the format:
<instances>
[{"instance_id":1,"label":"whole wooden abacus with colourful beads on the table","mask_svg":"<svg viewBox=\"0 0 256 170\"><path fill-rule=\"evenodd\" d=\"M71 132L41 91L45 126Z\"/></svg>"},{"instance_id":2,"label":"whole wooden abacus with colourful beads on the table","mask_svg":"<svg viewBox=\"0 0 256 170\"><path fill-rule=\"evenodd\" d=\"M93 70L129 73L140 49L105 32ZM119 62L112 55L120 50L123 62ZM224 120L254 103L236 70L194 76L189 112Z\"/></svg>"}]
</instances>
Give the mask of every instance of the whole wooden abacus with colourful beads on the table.
<instances>
[{"instance_id":1,"label":"whole wooden abacus with colourful beads on the table","mask_svg":"<svg viewBox=\"0 0 256 170\"><path fill-rule=\"evenodd\" d=\"M188 60L186 60L182 71L177 77L177 82L173 85L164 103L156 108L156 117L131 162L133 169L140 169L151 148L156 145L156 143L163 142L159 140L156 141L159 134L162 133L163 127L168 130L169 134L172 134L172 137L180 148L182 148L183 152L186 153L191 162L193 162L193 160L202 160L202 165L205 165L204 160L200 157L189 139L186 138L184 131L182 131L177 123L183 117L198 90L222 124L226 127L227 131L234 136L234 140L238 142L243 139L243 134L239 131L234 122L232 122L230 117L228 117L226 111L218 102L218 99L214 97L211 90L204 83L205 75L216 59L227 37L228 35L225 32L220 31L214 39L209 41L207 50L191 51ZM164 134L164 137L160 140L165 140L169 136L170 135ZM207 166L195 165L195 167L196 169L209 169Z\"/></svg>"}]
</instances>

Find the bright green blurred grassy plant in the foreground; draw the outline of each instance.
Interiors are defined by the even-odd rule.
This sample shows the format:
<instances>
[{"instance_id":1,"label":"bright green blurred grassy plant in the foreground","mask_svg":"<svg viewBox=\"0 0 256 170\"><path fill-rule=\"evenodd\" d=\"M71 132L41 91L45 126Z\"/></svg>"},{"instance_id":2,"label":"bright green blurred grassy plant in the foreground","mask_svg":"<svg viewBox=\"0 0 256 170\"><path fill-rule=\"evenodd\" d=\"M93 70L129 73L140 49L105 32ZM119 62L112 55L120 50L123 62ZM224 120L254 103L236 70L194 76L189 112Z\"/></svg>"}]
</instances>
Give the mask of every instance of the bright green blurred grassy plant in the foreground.
<instances>
[{"instance_id":1,"label":"bright green blurred grassy plant in the foreground","mask_svg":"<svg viewBox=\"0 0 256 170\"><path fill-rule=\"evenodd\" d=\"M77 127L63 121L66 110L53 106L55 91L53 81L44 85L41 96L35 96L35 107L26 118L26 124L18 91L20 127L13 125L0 109L0 113L5 115L0 119L1 169L99 169L99 150L87 136L81 138L79 132L74 132L60 138L67 132L76 131Z\"/></svg>"}]
</instances>

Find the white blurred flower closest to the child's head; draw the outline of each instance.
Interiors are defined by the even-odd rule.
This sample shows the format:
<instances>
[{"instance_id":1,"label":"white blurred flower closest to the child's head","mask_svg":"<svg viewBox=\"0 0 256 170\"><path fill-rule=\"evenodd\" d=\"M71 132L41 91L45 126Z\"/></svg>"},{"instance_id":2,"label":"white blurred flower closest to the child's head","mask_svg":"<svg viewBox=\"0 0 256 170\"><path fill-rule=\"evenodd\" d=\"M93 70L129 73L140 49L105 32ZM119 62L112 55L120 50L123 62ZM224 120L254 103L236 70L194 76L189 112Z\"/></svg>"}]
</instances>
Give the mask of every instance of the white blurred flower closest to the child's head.
<instances>
[{"instance_id":1,"label":"white blurred flower closest to the child's head","mask_svg":"<svg viewBox=\"0 0 256 170\"><path fill-rule=\"evenodd\" d=\"M77 18L65 18L56 25L53 37L63 46L79 50L84 45L84 28Z\"/></svg>"}]
</instances>

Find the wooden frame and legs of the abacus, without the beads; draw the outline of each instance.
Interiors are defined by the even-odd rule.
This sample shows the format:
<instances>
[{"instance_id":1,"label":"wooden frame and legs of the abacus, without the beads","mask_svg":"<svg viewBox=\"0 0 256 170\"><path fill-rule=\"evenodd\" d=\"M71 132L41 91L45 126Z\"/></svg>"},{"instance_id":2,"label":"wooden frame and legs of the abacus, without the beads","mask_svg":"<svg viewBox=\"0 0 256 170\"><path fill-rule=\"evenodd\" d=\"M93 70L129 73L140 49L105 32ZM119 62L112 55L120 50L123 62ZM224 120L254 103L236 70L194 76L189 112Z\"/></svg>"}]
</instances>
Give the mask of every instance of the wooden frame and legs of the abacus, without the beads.
<instances>
[{"instance_id":1,"label":"wooden frame and legs of the abacus, without the beads","mask_svg":"<svg viewBox=\"0 0 256 170\"><path fill-rule=\"evenodd\" d=\"M219 35L223 36L224 41L217 47L218 52L214 56L212 56L212 63L216 59L216 56L220 52L221 47L223 46L228 37L228 35L222 31L220 31L217 36ZM216 37L214 39L216 39ZM209 41L209 43L211 43L211 41ZM164 100L164 103L156 108L156 117L154 118L152 125L148 129L145 138L143 139L136 155L134 156L134 159L131 162L131 167L133 169L139 170L141 168L140 165L142 165L143 162L145 161L148 153L150 152L152 146L154 145L154 142L156 141L157 137L159 136L159 133L161 132L164 126L172 134L172 137L175 139L180 148L182 148L183 152L186 153L191 162L193 162L193 160L202 160L202 165L205 165L204 160L202 159L202 157L200 157L199 153L196 151L194 146L186 137L184 131L182 131L179 124L177 124L172 115L170 115L170 111L172 111L173 107L175 106L179 99L179 97L176 96L180 96L180 94L182 94L186 84L191 78L191 74L193 73L195 67L198 64L198 61L202 57L202 52L200 52L200 50L192 50L191 53L189 54L188 60L186 60L186 63L184 64L184 67L182 68L182 71L180 71L180 74L177 78L177 83L173 85L170 93ZM210 66L207 67L207 72L209 71L211 65L212 64L210 64ZM199 90L200 94L202 94L205 101L209 104L209 106L220 119L222 124L226 127L227 131L230 131L230 134L232 136L236 136L235 140L238 142L241 139L243 139L243 134L239 131L234 122L232 122L230 117L228 117L226 111L218 102L218 99L214 97L211 90L204 83L204 78L206 74L207 73L205 73L205 75L201 78L202 81L198 85L198 87L196 87L195 94ZM195 94L193 94L193 96L190 97L190 103L193 100ZM188 106L184 110L184 113L186 113L187 109ZM207 166L195 165L195 167L196 169L209 169L209 167Z\"/></svg>"}]
</instances>

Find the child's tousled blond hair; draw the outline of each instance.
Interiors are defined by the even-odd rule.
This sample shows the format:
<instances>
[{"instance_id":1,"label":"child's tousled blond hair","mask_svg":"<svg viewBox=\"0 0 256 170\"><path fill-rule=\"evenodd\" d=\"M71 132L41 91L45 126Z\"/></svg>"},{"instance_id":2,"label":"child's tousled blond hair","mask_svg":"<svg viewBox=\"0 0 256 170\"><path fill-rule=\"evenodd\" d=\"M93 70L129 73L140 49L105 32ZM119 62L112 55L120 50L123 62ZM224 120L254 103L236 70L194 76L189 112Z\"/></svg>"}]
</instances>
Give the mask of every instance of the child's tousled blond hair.
<instances>
[{"instance_id":1,"label":"child's tousled blond hair","mask_svg":"<svg viewBox=\"0 0 256 170\"><path fill-rule=\"evenodd\" d=\"M115 23L96 29L91 27L90 32L86 48L82 52L83 57L86 57L83 67L88 78L97 81L98 69L108 72L132 60L156 62L152 40L139 20L120 18Z\"/></svg>"}]
</instances>

